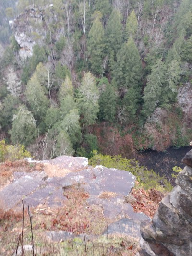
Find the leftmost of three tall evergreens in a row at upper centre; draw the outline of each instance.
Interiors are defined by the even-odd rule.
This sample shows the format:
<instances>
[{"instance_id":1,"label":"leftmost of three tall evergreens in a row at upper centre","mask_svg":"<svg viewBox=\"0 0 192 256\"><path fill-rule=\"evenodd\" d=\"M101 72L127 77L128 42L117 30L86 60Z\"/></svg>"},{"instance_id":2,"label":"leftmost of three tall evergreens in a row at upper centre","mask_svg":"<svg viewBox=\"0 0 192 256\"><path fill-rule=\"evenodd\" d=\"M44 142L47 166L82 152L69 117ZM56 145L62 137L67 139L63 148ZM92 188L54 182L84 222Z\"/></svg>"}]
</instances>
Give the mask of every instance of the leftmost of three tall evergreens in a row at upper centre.
<instances>
[{"instance_id":1,"label":"leftmost of three tall evergreens in a row at upper centre","mask_svg":"<svg viewBox=\"0 0 192 256\"><path fill-rule=\"evenodd\" d=\"M104 29L98 17L93 21L89 31L87 53L91 71L95 74L101 74L104 56Z\"/></svg>"}]
</instances>

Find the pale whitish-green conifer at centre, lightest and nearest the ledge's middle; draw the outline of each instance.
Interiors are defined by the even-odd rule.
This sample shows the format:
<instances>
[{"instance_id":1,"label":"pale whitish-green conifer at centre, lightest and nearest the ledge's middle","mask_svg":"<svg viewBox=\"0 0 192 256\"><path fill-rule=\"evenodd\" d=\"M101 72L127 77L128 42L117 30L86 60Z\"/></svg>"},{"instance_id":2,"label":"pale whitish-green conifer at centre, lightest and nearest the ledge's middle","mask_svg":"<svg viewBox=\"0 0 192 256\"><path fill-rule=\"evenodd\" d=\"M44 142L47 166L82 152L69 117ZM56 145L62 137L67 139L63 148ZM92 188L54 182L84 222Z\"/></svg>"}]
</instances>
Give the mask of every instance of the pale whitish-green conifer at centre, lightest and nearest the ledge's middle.
<instances>
[{"instance_id":1,"label":"pale whitish-green conifer at centre, lightest and nearest the ledge's middle","mask_svg":"<svg viewBox=\"0 0 192 256\"><path fill-rule=\"evenodd\" d=\"M84 74L81 86L78 88L77 102L82 115L82 122L86 126L94 124L99 112L99 93L94 76L88 72Z\"/></svg>"}]
</instances>

